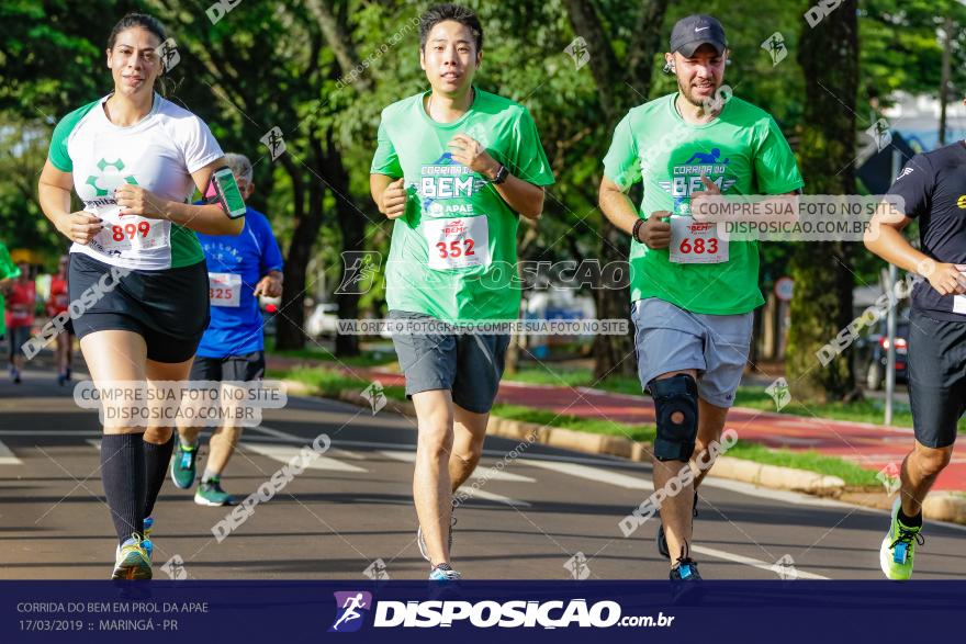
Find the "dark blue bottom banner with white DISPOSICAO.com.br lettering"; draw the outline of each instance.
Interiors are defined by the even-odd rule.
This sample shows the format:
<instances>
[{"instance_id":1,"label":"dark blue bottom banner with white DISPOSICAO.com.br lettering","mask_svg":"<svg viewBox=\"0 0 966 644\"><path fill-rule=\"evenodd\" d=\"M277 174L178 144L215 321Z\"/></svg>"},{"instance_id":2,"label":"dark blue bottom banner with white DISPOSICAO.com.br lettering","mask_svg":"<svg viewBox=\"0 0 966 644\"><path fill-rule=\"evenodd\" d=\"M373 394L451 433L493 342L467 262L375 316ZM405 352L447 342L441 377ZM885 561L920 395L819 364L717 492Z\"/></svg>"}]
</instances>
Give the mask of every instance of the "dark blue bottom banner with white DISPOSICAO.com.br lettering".
<instances>
[{"instance_id":1,"label":"dark blue bottom banner with white DISPOSICAO.com.br lettering","mask_svg":"<svg viewBox=\"0 0 966 644\"><path fill-rule=\"evenodd\" d=\"M962 637L966 581L0 581L0 642Z\"/></svg>"}]
</instances>

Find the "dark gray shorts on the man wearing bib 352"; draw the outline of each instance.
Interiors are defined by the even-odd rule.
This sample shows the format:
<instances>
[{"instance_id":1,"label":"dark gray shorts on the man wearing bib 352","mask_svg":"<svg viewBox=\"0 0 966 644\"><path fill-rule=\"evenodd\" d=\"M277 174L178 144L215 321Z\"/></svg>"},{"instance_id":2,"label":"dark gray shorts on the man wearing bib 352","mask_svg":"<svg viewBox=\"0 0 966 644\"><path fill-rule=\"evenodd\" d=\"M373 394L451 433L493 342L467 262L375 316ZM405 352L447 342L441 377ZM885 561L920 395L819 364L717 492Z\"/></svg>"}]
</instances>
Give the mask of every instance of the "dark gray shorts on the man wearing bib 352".
<instances>
[{"instance_id":1,"label":"dark gray shorts on the man wearing bib 352","mask_svg":"<svg viewBox=\"0 0 966 644\"><path fill-rule=\"evenodd\" d=\"M425 313L389 312L390 319L434 320ZM453 403L474 414L486 414L496 399L509 346L508 335L393 335L400 368L406 376L406 396L449 389Z\"/></svg>"}]
</instances>

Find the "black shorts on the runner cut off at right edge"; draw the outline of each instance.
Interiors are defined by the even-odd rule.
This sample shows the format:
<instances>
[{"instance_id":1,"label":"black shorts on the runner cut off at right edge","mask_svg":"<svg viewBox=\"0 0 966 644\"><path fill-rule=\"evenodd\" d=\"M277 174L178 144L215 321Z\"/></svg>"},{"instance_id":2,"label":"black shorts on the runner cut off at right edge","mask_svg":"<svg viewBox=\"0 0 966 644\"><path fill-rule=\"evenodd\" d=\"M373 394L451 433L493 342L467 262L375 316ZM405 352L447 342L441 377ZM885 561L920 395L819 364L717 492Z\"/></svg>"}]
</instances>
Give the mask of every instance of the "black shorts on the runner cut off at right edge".
<instances>
[{"instance_id":1,"label":"black shorts on the runner cut off at right edge","mask_svg":"<svg viewBox=\"0 0 966 644\"><path fill-rule=\"evenodd\" d=\"M909 402L916 440L928 448L956 441L966 411L966 323L913 309L909 318Z\"/></svg>"}]
</instances>

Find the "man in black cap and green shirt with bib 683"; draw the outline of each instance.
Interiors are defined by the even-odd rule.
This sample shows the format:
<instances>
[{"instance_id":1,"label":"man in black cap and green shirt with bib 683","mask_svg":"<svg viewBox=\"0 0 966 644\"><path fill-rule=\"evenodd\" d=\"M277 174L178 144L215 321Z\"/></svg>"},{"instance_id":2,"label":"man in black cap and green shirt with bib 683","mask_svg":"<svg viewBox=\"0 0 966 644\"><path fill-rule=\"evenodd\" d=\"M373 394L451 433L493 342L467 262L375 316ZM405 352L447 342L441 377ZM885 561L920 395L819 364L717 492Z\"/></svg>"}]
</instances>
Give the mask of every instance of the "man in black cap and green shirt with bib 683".
<instances>
[{"instance_id":1,"label":"man in black cap and green shirt with bib 683","mask_svg":"<svg viewBox=\"0 0 966 644\"><path fill-rule=\"evenodd\" d=\"M720 451L748 360L752 312L764 303L757 245L729 242L715 226L696 224L693 199L796 194L802 187L775 121L722 86L728 54L714 18L675 24L664 58L678 91L632 109L617 125L600 182L602 211L632 236L639 376L658 415L652 498L666 493L663 502L645 501L659 507L642 505L647 517L636 510L621 529L630 535L660 510L658 546L672 560L672 579L700 579L688 547L694 490ZM638 181L640 212L626 194Z\"/></svg>"}]
</instances>

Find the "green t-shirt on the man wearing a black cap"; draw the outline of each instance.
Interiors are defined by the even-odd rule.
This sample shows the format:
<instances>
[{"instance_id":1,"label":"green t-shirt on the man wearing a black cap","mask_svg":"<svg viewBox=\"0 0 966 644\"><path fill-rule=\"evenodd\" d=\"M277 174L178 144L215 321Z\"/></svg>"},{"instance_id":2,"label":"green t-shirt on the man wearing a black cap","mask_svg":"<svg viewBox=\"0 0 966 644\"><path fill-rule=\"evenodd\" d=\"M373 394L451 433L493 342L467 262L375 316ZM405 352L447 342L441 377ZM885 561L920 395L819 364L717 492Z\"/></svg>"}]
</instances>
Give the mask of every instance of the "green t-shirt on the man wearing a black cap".
<instances>
[{"instance_id":1,"label":"green t-shirt on the man wearing a black cap","mask_svg":"<svg viewBox=\"0 0 966 644\"><path fill-rule=\"evenodd\" d=\"M788 142L767 112L732 97L710 123L686 123L669 94L631 110L617 125L604 173L622 190L643 181L640 216L689 216L701 172L721 194L783 194L804 185ZM631 240L631 302L658 297L693 313L733 315L764 304L754 241L728 244L719 263L672 263L669 249Z\"/></svg>"}]
</instances>

